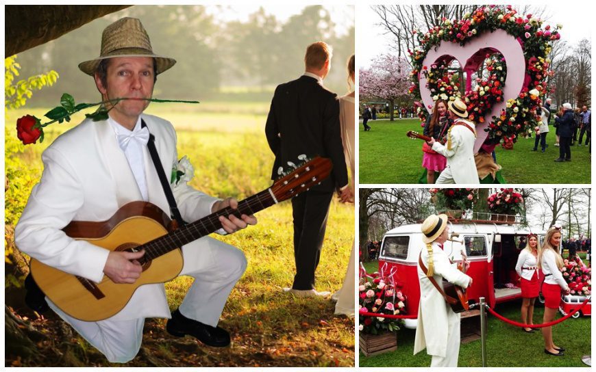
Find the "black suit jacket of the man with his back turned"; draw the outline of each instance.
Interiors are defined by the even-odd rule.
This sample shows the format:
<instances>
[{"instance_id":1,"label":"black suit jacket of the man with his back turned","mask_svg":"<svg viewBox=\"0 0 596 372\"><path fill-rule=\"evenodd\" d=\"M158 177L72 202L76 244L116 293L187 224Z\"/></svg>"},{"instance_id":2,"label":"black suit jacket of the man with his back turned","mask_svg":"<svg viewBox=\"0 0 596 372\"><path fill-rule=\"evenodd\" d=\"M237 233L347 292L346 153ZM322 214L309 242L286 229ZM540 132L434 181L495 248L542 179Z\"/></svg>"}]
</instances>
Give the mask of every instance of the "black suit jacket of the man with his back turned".
<instances>
[{"instance_id":1,"label":"black suit jacket of the man with his back turned","mask_svg":"<svg viewBox=\"0 0 596 372\"><path fill-rule=\"evenodd\" d=\"M339 101L316 79L299 79L278 85L265 125L267 142L275 163L271 179L279 178L280 167L288 161L297 164L299 155L328 157L333 163L332 174L312 189L333 191L348 184L347 168L341 143Z\"/></svg>"}]
</instances>

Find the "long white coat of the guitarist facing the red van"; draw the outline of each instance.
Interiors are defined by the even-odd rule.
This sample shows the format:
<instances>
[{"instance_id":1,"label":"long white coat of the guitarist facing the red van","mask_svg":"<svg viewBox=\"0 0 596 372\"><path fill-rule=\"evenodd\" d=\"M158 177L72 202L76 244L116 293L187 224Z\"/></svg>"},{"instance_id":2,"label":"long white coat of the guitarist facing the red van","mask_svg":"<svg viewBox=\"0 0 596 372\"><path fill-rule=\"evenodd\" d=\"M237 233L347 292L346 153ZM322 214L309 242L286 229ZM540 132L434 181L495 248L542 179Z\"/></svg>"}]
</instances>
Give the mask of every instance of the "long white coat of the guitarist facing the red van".
<instances>
[{"instance_id":1,"label":"long white coat of the guitarist facing the red van","mask_svg":"<svg viewBox=\"0 0 596 372\"><path fill-rule=\"evenodd\" d=\"M467 130L467 129L466 129ZM428 252L422 248L422 262L428 268ZM449 262L449 257L443 252L438 243L432 243L432 260L434 263L434 280L443 289L443 278L448 282L467 288L470 277L457 269L456 264ZM449 318L460 315L454 313L445 302L442 295L436 290L432 282L418 266L418 279L420 282L420 304L418 306L418 323L416 338L414 339L414 354L427 349L427 354L445 358L447 353L447 338Z\"/></svg>"}]
</instances>

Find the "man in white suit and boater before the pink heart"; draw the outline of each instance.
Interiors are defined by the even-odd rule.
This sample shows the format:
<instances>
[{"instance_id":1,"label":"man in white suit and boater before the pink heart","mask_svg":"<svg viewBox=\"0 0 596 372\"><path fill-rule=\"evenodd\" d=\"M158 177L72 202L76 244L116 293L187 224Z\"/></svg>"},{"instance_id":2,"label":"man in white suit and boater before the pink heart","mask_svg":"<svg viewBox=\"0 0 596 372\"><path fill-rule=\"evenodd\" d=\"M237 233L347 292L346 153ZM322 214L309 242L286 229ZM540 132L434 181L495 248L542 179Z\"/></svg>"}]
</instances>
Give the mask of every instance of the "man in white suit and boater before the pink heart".
<instances>
[{"instance_id":1,"label":"man in white suit and boater before the pink heart","mask_svg":"<svg viewBox=\"0 0 596 372\"><path fill-rule=\"evenodd\" d=\"M447 158L447 168L438 176L436 183L479 183L474 160L475 124L468 117L465 103L460 99L449 101L449 118L454 120L447 131L447 144L428 142L433 150Z\"/></svg>"}]
</instances>

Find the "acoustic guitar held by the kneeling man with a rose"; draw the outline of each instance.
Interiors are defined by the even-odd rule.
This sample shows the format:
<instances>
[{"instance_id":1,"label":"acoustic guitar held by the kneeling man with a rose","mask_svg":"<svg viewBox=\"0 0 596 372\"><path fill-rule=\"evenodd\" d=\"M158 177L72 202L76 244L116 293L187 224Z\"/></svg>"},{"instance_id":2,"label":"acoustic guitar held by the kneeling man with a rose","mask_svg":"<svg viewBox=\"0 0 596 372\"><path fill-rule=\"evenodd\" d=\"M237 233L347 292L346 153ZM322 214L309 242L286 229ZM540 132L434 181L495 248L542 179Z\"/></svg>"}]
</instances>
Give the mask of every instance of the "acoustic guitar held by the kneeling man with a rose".
<instances>
[{"instance_id":1,"label":"acoustic guitar held by the kneeling man with a rose","mask_svg":"<svg viewBox=\"0 0 596 372\"><path fill-rule=\"evenodd\" d=\"M167 282L182 270L180 247L221 228L221 215L252 215L321 183L332 170L330 159L316 157L271 187L227 207L176 228L170 217L149 202L129 202L107 221L74 221L63 231L69 237L88 241L110 251L145 250L138 261L142 274L132 284L116 284L104 276L99 283L65 273L32 258L31 274L40 289L64 313L82 321L99 321L118 313L136 289L144 284Z\"/></svg>"}]
</instances>

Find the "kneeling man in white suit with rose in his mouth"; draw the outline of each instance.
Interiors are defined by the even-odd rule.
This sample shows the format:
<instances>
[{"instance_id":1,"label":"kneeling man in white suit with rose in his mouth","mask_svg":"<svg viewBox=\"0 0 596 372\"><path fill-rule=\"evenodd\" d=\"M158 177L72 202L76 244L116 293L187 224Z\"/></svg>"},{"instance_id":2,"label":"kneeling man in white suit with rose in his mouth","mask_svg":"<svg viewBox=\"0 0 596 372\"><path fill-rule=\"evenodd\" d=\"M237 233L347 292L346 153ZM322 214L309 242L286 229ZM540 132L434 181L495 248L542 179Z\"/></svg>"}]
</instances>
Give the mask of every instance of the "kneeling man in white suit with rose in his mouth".
<instances>
[{"instance_id":1,"label":"kneeling man in white suit with rose in his mouth","mask_svg":"<svg viewBox=\"0 0 596 372\"><path fill-rule=\"evenodd\" d=\"M122 18L103 31L101 54L79 64L95 78L102 101L114 98L151 98L156 75L175 60L153 53L149 36L135 18ZM62 232L71 221L105 221L124 204L145 200L169 211L164 189L147 150L149 133L155 137L164 170L177 164L176 133L170 122L143 114L149 101L126 100L107 104L108 120L84 120L58 137L42 155L44 172L34 187L15 230L18 248L38 261L100 282L108 276L116 283L132 283L140 277L136 261L145 252L115 252ZM142 128L142 122L146 128ZM185 221L195 221L227 206L184 181L173 181L173 195ZM234 233L253 216L221 217L221 233ZM184 301L170 313L163 284L137 289L128 304L108 319L89 322L75 319L48 300L62 319L99 349L110 362L127 362L136 356L147 317L169 319L166 330L175 336L190 334L206 345L229 345L229 334L217 327L227 297L245 271L240 250L203 237L182 247L180 275L195 278Z\"/></svg>"}]
</instances>

